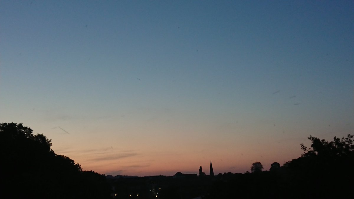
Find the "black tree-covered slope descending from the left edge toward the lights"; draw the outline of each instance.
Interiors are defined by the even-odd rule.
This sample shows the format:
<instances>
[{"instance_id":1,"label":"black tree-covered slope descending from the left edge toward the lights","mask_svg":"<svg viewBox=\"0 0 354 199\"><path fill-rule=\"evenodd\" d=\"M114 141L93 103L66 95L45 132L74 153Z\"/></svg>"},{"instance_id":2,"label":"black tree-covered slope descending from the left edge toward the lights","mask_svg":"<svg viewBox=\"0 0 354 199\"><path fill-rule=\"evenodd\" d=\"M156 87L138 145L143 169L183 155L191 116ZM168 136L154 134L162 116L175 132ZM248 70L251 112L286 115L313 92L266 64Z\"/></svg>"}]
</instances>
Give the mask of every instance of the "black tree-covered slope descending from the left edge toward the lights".
<instances>
[{"instance_id":1,"label":"black tree-covered slope descending from the left edge toward the lights","mask_svg":"<svg viewBox=\"0 0 354 199\"><path fill-rule=\"evenodd\" d=\"M109 198L105 176L82 171L74 160L55 154L51 140L15 123L0 124L1 198Z\"/></svg>"}]
</instances>

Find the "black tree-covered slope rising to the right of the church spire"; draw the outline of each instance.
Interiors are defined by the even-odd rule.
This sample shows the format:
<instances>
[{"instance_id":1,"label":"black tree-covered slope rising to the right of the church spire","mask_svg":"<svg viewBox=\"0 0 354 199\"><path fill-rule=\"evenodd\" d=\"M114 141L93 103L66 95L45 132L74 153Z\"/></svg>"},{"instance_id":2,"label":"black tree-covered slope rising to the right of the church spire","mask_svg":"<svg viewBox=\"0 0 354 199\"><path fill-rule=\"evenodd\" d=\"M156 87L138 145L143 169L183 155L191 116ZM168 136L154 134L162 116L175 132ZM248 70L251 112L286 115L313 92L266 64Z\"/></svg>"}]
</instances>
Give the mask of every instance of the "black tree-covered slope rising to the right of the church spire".
<instances>
[{"instance_id":1,"label":"black tree-covered slope rising to the right of the church spire","mask_svg":"<svg viewBox=\"0 0 354 199\"><path fill-rule=\"evenodd\" d=\"M245 174L219 174L207 198L332 199L353 198L353 135L333 141L310 136L301 157L262 171L260 162Z\"/></svg>"}]
</instances>

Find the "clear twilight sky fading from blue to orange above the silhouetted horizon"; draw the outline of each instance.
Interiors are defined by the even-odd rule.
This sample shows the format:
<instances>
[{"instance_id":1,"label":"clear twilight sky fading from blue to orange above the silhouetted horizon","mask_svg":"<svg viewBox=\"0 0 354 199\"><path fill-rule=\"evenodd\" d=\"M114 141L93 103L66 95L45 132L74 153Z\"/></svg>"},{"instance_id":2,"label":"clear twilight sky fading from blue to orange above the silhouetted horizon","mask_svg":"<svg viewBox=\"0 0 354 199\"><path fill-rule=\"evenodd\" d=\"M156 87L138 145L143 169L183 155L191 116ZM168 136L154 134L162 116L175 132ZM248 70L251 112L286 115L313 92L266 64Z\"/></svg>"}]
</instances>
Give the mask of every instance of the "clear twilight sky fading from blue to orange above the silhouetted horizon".
<instances>
[{"instance_id":1,"label":"clear twilight sky fading from blue to orange above the silhouetted horizon","mask_svg":"<svg viewBox=\"0 0 354 199\"><path fill-rule=\"evenodd\" d=\"M0 1L0 122L84 170L246 172L354 133L354 1Z\"/></svg>"}]
</instances>

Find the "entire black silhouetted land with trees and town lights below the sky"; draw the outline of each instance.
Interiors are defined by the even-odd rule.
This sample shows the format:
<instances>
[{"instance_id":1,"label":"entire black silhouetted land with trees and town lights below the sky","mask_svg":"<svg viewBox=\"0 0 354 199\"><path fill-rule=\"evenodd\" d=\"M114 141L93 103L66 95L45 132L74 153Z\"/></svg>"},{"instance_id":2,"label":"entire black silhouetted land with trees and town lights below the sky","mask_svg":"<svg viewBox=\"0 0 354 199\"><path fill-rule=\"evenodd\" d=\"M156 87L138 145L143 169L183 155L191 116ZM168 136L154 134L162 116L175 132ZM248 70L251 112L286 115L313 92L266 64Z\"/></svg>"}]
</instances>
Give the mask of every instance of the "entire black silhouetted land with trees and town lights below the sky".
<instances>
[{"instance_id":1,"label":"entire black silhouetted land with trees and town lights below the sky","mask_svg":"<svg viewBox=\"0 0 354 199\"><path fill-rule=\"evenodd\" d=\"M301 157L283 166L273 163L269 171L256 162L245 174L206 176L200 168L199 176L147 177L82 171L74 160L55 154L51 140L22 124L2 123L0 135L1 198L353 198L352 135L333 141L310 136L312 145L301 145Z\"/></svg>"}]
</instances>

